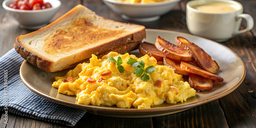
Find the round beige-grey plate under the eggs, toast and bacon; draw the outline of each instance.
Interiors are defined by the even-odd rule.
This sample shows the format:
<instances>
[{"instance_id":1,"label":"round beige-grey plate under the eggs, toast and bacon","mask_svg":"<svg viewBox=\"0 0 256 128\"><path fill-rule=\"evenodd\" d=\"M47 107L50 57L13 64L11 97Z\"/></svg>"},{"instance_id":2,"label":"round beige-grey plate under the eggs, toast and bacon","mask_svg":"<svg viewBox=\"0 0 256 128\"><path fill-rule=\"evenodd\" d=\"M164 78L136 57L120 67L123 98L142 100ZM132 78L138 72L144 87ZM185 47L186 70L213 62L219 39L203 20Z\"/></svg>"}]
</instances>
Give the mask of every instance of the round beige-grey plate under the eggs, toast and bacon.
<instances>
[{"instance_id":1,"label":"round beige-grey plate under the eggs, toast and bacon","mask_svg":"<svg viewBox=\"0 0 256 128\"><path fill-rule=\"evenodd\" d=\"M215 84L211 91L197 92L195 97L188 98L183 103L168 104L164 102L161 105L152 106L151 109L121 109L116 106L77 104L76 96L58 93L58 89L52 87L52 83L55 81L54 77L64 76L70 69L50 73L32 66L25 60L20 67L20 78L31 91L51 101L83 109L96 115L126 118L155 117L185 111L222 98L236 90L242 83L246 71L244 63L236 53L226 46L191 34L156 29L146 29L146 39L143 41L154 43L157 36L161 36L173 43L175 43L177 36L182 36L197 44L211 55L212 59L218 62L220 70L217 74L224 78L224 81ZM138 57L141 56L138 50L132 51L130 54L135 54Z\"/></svg>"}]
</instances>

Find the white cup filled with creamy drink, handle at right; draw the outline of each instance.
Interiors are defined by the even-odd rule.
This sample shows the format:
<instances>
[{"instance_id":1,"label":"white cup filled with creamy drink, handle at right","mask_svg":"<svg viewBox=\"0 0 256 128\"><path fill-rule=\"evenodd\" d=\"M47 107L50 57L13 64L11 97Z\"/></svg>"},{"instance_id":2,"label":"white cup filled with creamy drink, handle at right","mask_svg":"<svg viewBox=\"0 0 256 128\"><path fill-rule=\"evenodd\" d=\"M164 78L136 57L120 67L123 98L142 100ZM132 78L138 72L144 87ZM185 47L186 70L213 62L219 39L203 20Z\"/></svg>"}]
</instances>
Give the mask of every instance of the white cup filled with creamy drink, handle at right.
<instances>
[{"instance_id":1,"label":"white cup filled with creamy drink, handle at right","mask_svg":"<svg viewBox=\"0 0 256 128\"><path fill-rule=\"evenodd\" d=\"M242 18L246 20L247 27L239 30ZM253 28L251 15L244 14L243 6L231 0L189 1L186 4L186 22L190 33L216 41L228 40Z\"/></svg>"}]
</instances>

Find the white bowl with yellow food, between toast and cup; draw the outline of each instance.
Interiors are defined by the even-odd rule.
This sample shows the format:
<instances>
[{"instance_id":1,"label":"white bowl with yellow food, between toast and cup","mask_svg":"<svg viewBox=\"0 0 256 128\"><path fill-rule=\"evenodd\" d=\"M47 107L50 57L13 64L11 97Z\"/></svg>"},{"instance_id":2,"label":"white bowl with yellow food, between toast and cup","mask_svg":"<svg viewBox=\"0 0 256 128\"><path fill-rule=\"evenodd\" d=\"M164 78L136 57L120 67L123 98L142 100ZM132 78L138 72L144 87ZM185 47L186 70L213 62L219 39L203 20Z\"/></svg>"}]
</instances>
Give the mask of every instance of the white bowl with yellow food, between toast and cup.
<instances>
[{"instance_id":1,"label":"white bowl with yellow food, between toast and cup","mask_svg":"<svg viewBox=\"0 0 256 128\"><path fill-rule=\"evenodd\" d=\"M130 4L116 0L102 0L114 12L121 14L125 20L133 22L153 22L161 15L172 10L181 0L170 0L149 4Z\"/></svg>"}]
</instances>

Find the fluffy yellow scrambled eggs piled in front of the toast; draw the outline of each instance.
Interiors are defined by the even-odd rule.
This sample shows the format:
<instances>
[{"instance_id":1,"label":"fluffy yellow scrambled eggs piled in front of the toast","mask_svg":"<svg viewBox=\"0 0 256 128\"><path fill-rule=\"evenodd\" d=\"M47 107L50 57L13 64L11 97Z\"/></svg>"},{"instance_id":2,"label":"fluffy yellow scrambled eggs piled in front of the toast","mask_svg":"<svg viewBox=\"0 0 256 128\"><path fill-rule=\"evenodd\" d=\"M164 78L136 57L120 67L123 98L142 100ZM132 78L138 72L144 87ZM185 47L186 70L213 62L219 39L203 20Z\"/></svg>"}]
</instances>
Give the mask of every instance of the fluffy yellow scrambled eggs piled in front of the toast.
<instances>
[{"instance_id":1,"label":"fluffy yellow scrambled eggs piled in front of the toast","mask_svg":"<svg viewBox=\"0 0 256 128\"><path fill-rule=\"evenodd\" d=\"M109 57L116 60L122 58L121 66L124 72L120 73L114 62L106 61ZM137 77L134 68L126 62L132 57L145 62L145 68L155 66L156 70L148 74L146 82ZM90 63L80 63L65 76L55 77L53 87L66 95L76 95L79 104L117 105L119 108L148 109L151 106L186 101L196 95L196 90L184 82L182 75L176 74L173 69L157 65L157 60L148 55L137 58L135 55L119 55L110 52L101 59L92 55Z\"/></svg>"}]
</instances>

